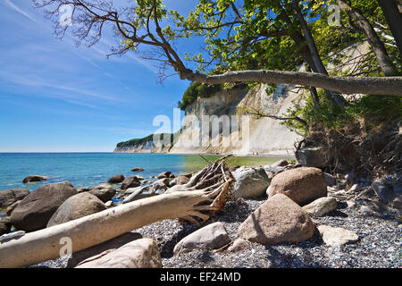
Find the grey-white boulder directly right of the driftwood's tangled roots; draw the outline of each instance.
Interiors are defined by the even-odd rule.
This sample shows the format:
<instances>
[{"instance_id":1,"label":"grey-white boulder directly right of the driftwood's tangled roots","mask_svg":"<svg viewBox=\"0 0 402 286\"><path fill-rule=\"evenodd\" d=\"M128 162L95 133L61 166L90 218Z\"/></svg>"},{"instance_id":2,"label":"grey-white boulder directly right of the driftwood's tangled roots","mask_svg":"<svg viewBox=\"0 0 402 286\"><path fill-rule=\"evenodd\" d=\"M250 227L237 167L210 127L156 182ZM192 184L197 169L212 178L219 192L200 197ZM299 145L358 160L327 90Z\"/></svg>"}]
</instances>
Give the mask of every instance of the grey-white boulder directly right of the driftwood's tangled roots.
<instances>
[{"instance_id":1,"label":"grey-white boulder directly right of the driftwood's tangled roots","mask_svg":"<svg viewBox=\"0 0 402 286\"><path fill-rule=\"evenodd\" d=\"M232 172L235 178L233 196L235 198L258 198L264 196L270 180L264 168L238 169Z\"/></svg>"}]
</instances>

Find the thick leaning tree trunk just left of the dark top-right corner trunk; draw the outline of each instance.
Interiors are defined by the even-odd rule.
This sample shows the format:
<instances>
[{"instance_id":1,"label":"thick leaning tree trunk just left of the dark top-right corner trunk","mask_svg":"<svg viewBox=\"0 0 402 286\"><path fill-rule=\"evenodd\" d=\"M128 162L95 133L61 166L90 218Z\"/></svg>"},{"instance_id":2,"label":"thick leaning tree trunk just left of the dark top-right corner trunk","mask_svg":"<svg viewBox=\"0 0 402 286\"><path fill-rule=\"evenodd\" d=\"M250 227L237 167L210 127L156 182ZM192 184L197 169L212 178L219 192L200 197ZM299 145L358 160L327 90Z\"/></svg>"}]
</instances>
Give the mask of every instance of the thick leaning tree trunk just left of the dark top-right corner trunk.
<instances>
[{"instance_id":1,"label":"thick leaning tree trunk just left of the dark top-right corner trunk","mask_svg":"<svg viewBox=\"0 0 402 286\"><path fill-rule=\"evenodd\" d=\"M394 63L390 60L387 50L373 29L372 24L357 9L350 7L346 1L337 0L337 3L340 10L348 13L348 16L356 21L357 27L364 31L367 41L370 46L372 46L373 52L380 64L381 71L384 72L385 76L397 75L397 69L395 68Z\"/></svg>"}]
</instances>

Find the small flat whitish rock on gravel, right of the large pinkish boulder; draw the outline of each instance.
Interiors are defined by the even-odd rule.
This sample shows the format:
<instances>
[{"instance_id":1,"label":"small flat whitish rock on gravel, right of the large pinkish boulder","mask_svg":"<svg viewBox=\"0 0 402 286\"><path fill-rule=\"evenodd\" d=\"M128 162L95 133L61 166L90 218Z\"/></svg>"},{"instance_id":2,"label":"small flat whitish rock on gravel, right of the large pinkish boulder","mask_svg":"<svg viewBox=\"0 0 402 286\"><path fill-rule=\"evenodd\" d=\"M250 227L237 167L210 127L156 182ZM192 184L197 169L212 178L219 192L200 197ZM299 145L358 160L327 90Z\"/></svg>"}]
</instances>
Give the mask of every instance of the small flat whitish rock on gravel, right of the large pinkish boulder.
<instances>
[{"instance_id":1,"label":"small flat whitish rock on gravel, right of the large pinkish boulder","mask_svg":"<svg viewBox=\"0 0 402 286\"><path fill-rule=\"evenodd\" d=\"M333 247L339 247L347 243L359 240L358 235L353 231L348 231L340 227L332 227L330 225L318 225L318 231L322 235L325 244Z\"/></svg>"}]
</instances>

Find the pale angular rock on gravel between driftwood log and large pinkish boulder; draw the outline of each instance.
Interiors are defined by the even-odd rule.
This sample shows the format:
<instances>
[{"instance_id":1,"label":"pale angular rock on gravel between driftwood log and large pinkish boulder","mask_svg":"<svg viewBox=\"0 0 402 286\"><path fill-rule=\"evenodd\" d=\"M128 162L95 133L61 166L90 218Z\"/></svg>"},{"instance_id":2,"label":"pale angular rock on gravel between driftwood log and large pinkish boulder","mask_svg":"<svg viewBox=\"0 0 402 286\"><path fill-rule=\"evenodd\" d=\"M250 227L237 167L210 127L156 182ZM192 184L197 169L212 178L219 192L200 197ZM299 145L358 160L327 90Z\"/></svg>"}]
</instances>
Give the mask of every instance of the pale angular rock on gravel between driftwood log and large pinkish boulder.
<instances>
[{"instance_id":1,"label":"pale angular rock on gravel between driftwood log and large pinkish boulder","mask_svg":"<svg viewBox=\"0 0 402 286\"><path fill-rule=\"evenodd\" d=\"M230 242L223 223L216 222L194 231L180 240L173 249L174 254L202 248L222 248Z\"/></svg>"}]
</instances>

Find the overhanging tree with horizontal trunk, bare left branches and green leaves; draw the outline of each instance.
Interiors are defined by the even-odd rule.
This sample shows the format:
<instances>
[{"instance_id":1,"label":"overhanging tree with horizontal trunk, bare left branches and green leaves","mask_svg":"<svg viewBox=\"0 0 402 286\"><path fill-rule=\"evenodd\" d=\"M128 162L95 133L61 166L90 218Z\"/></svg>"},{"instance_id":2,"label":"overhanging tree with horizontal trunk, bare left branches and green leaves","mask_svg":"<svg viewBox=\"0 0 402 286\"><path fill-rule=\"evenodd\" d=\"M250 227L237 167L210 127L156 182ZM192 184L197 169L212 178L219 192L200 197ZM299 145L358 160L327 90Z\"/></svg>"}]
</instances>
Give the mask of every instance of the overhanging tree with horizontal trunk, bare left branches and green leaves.
<instances>
[{"instance_id":1,"label":"overhanging tree with horizontal trunk, bare left branches and green leaves","mask_svg":"<svg viewBox=\"0 0 402 286\"><path fill-rule=\"evenodd\" d=\"M291 5L282 5L283 3L290 4L289 1L269 1L269 0L245 0L244 10L240 13L235 7L234 0L200 0L197 4L197 11L204 11L205 15L208 15L203 21L203 26L209 29L211 37L205 36L205 40L221 45L222 53L219 57L222 57L222 64L217 64L214 68L214 72L205 74L205 72L192 71L183 62L182 57L177 53L174 48L174 41L183 37L190 37L195 30L182 30L178 32L175 28L172 28L168 24L168 21L173 21L175 25L181 25L181 23L188 21L185 17L180 15L177 11L168 10L163 4L162 0L137 0L131 1L127 9L119 11L113 6L112 1L98 0L33 0L37 7L47 7L46 16L53 18L55 24L55 31L60 37L63 37L68 27L63 27L58 22L58 8L63 4L73 5L73 27L74 35L79 42L86 41L88 45L94 45L101 37L102 31L107 23L112 23L116 29L117 34L121 37L121 46L113 49L115 54L123 54L130 50L141 50L146 53L150 53L151 58L158 60L162 63L162 70L166 71L166 68L171 67L176 71L180 79L192 80L202 82L206 84L221 84L225 82L241 82L241 81L254 81L265 83L289 83L300 84L306 87L324 88L326 90L332 90L339 93L353 94L388 94L401 96L402 90L402 78L401 77L333 77L327 74L315 73L315 72L298 72L298 71L275 71L272 67L263 70L249 70L247 66L242 70L235 70L227 68L230 65L230 60L233 59L233 55L225 53L224 46L236 44L247 48L247 42L249 38L246 34L242 34L242 29L239 29L241 21L247 21L246 27L259 31L264 29L267 24L279 25L283 27L283 19L276 19L270 23L267 23L264 13L271 13L273 5L280 3L281 7L285 9L291 9ZM296 1L298 4L298 1ZM272 6L270 6L272 4ZM291 3L293 5L293 3ZM313 4L312 1L306 1L306 4ZM232 26L225 25L230 37L233 37L236 41L220 42L214 38L214 27L208 27L209 21L220 22L220 18L225 17L225 13L228 12L229 7L232 8L234 13L234 23ZM235 7L236 8L236 7ZM254 9L254 12L252 12ZM247 13L248 11L248 13ZM261 11L261 13L259 13ZM303 9L304 13L308 9ZM287 11L287 13L290 13ZM197 16L197 15L196 15ZM264 16L264 18L263 18ZM191 14L189 20L191 21ZM192 17L197 19L197 17ZM239 22L238 22L239 21ZM197 23L196 23L197 24ZM300 24L300 21L298 22ZM211 29L210 29L211 28ZM223 29L223 27L218 27ZM231 32L231 29L233 32ZM239 30L238 30L239 29ZM297 29L297 24L290 25L290 34L293 34L293 29ZM247 29L243 29L247 31ZM306 33L306 30L305 30ZM267 35L267 41L282 41L281 38L272 38ZM305 35L306 36L306 35ZM229 37L229 38L230 38ZM370 37L370 35L368 36ZM286 43L289 39L284 38L282 44L292 45L293 43ZM253 39L251 39L253 41ZM295 43L296 45L296 43ZM308 46L308 45L307 45ZM264 49L264 45L261 46ZM283 45L281 45L283 47ZM220 50L219 48L217 49ZM310 53L311 48L309 47ZM274 52L274 51L271 51ZM215 52L216 53L216 52ZM251 54L253 54L251 52ZM218 57L218 55L215 54ZM228 61L226 61L228 60ZM283 61L287 62L286 59ZM199 57L199 62L204 63L202 57ZM214 62L214 58L211 63ZM313 69L313 66L312 66ZM226 72L224 72L226 71ZM313 69L314 71L314 69Z\"/></svg>"}]
</instances>

